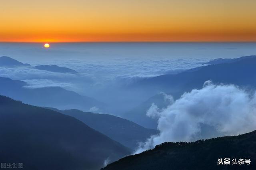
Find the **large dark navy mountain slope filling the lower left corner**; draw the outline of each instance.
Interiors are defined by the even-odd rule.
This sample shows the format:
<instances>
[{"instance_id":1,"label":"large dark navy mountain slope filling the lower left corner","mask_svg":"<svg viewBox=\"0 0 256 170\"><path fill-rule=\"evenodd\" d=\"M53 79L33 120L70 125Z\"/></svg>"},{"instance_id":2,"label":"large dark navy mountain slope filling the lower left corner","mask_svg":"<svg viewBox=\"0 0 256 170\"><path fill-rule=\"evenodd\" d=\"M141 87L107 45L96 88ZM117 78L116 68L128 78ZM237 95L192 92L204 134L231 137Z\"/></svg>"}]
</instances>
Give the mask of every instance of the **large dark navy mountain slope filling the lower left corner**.
<instances>
[{"instance_id":1,"label":"large dark navy mountain slope filling the lower left corner","mask_svg":"<svg viewBox=\"0 0 256 170\"><path fill-rule=\"evenodd\" d=\"M128 148L56 111L0 96L0 160L25 170L96 170Z\"/></svg>"}]
</instances>

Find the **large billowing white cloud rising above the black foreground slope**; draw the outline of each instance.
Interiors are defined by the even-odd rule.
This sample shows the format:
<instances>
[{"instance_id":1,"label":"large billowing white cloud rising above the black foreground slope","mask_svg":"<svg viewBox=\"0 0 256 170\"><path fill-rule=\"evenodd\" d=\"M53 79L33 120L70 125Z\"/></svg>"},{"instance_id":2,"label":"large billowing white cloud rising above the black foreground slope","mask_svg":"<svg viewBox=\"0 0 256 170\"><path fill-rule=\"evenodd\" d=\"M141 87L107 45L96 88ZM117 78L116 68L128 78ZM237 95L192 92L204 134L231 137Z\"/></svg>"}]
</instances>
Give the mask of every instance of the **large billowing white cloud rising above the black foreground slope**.
<instances>
[{"instance_id":1,"label":"large billowing white cloud rising above the black foreground slope","mask_svg":"<svg viewBox=\"0 0 256 170\"><path fill-rule=\"evenodd\" d=\"M194 141L230 136L256 129L256 93L235 85L206 81L202 89L184 93L164 109L152 104L147 113L158 117L160 134L141 143L135 153L162 142Z\"/></svg>"}]
</instances>

